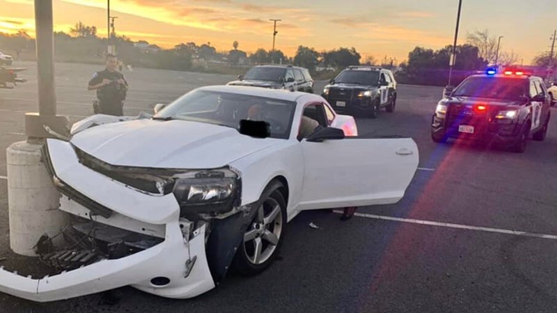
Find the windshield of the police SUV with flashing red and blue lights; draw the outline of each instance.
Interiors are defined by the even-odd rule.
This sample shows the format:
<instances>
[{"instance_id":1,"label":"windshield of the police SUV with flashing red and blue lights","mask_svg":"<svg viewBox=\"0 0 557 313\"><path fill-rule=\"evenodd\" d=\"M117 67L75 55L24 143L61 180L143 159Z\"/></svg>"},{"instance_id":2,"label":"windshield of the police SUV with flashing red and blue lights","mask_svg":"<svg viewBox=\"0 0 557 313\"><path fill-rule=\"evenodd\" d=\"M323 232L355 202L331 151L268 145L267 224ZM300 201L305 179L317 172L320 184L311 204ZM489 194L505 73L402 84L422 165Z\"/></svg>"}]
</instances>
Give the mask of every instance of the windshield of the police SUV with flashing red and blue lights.
<instances>
[{"instance_id":1,"label":"windshield of the police SUV with flashing red and blue lights","mask_svg":"<svg viewBox=\"0 0 557 313\"><path fill-rule=\"evenodd\" d=\"M507 77L471 77L457 87L455 97L520 99L528 95L528 80Z\"/></svg>"}]
</instances>

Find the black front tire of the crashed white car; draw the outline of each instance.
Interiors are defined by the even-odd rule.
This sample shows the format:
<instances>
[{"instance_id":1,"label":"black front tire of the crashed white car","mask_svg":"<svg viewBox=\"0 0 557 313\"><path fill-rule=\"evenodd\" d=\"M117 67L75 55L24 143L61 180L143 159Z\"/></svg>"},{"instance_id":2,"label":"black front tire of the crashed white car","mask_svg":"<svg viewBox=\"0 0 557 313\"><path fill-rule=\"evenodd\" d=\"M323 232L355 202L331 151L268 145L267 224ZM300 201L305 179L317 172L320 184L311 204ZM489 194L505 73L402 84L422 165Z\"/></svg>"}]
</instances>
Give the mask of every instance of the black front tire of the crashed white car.
<instances>
[{"instance_id":1,"label":"black front tire of the crashed white car","mask_svg":"<svg viewBox=\"0 0 557 313\"><path fill-rule=\"evenodd\" d=\"M262 271L265 271L267 268L269 268L269 266L271 266L271 264L278 256L284 241L285 228L286 228L286 201L284 199L283 193L281 192L281 189L283 188L284 186L280 182L276 182L276 181L271 182L271 184L269 184L269 186L265 188L265 191L263 191L260 198L260 203L264 211L269 209L268 207L266 207L267 201L269 201L268 203L276 203L280 207L280 211L281 211L280 226L278 225L278 222L273 223L272 225L273 230L276 230L274 227L281 227L280 235L278 236L278 243L276 245L271 245L270 243L267 242L267 246L264 246L263 241L265 241L264 239L265 236L258 236L257 238L260 239L261 242L260 244L265 248L265 250L263 250L263 248L261 249L262 253L265 253L265 251L267 251L267 248L271 246L275 247L274 250L272 250L272 252L270 253L270 255L265 259L264 262L258 263L258 262L253 262L253 260L249 256L252 250L255 250L256 239L253 239L254 241L253 244L251 243L251 241L249 242L242 241L233 261L233 266L238 273L246 276L258 275ZM244 238L246 237L248 232L259 229L255 227L257 220L258 220L258 214L256 213L253 218L253 221L250 223L248 229L246 230L246 233L244 234ZM267 228L265 228L264 230L267 230ZM255 255L253 259L256 259Z\"/></svg>"}]
</instances>

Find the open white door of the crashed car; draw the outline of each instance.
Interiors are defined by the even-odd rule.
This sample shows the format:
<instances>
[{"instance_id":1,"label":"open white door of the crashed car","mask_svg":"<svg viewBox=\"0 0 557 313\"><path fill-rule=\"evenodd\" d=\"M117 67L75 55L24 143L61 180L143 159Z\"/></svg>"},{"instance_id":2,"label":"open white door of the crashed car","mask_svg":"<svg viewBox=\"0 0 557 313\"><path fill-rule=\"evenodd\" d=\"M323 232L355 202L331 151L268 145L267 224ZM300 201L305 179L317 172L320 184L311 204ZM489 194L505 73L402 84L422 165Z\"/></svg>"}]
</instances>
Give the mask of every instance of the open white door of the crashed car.
<instances>
[{"instance_id":1,"label":"open white door of the crashed car","mask_svg":"<svg viewBox=\"0 0 557 313\"><path fill-rule=\"evenodd\" d=\"M300 142L304 153L301 210L398 202L418 167L411 138L354 136Z\"/></svg>"}]
</instances>

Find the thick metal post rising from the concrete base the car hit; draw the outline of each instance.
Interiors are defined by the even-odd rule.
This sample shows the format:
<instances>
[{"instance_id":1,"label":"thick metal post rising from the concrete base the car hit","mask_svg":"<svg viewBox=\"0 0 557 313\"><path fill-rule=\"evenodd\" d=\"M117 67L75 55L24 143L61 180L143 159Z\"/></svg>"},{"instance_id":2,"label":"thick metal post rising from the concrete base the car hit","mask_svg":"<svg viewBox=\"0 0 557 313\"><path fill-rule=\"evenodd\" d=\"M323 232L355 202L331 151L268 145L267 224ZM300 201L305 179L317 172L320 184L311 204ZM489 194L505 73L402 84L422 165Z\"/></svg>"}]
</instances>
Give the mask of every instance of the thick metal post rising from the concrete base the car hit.
<instances>
[{"instance_id":1,"label":"thick metal post rising from the concrete base the car hit","mask_svg":"<svg viewBox=\"0 0 557 313\"><path fill-rule=\"evenodd\" d=\"M38 104L40 115L56 115L52 0L35 0Z\"/></svg>"}]
</instances>

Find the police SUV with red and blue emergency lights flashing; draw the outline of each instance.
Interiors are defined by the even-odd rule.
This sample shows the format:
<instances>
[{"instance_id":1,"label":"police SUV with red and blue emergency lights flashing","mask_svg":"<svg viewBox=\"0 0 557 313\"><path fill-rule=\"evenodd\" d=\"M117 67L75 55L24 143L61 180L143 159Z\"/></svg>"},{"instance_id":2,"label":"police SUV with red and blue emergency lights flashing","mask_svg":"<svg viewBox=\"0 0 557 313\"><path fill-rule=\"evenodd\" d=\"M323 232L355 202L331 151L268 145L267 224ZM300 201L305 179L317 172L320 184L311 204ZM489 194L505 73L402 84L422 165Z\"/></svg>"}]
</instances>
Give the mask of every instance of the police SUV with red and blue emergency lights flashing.
<instances>
[{"instance_id":1,"label":"police SUV with red and blue emergency lights flashing","mask_svg":"<svg viewBox=\"0 0 557 313\"><path fill-rule=\"evenodd\" d=\"M529 136L543 141L551 112L544 81L519 70L467 77L446 90L432 116L432 140L471 139L524 152Z\"/></svg>"}]
</instances>

